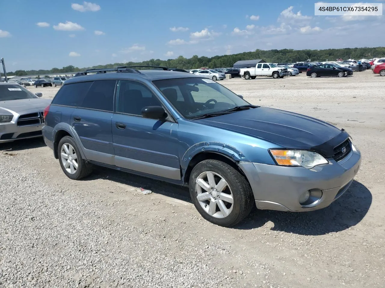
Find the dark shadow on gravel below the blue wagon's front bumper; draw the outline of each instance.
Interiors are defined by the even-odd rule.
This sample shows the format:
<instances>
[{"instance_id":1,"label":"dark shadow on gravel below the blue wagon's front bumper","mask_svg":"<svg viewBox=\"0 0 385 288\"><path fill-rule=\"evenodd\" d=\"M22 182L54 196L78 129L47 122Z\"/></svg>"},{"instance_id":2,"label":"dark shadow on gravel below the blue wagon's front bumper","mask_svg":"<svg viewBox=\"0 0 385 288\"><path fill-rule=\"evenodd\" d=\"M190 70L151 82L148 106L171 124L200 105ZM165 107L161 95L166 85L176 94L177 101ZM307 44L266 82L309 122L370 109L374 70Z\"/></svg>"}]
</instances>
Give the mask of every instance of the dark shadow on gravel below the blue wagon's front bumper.
<instances>
[{"instance_id":1,"label":"dark shadow on gravel below the blue wagon's front bumper","mask_svg":"<svg viewBox=\"0 0 385 288\"><path fill-rule=\"evenodd\" d=\"M271 230L300 235L323 235L356 225L365 217L371 204L370 191L354 180L348 191L324 209L298 213L254 209L244 222L234 228L253 229L271 221L274 223Z\"/></svg>"}]
</instances>

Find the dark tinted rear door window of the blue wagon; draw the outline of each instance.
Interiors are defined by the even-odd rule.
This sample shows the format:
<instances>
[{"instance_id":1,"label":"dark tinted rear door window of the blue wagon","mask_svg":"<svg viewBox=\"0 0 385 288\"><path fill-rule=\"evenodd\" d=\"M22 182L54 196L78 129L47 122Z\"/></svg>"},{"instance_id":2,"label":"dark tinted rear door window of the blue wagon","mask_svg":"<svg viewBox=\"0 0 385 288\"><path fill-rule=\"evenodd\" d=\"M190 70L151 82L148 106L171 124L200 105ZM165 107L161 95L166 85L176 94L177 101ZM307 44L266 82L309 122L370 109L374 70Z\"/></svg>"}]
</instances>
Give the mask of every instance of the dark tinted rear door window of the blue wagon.
<instances>
[{"instance_id":1,"label":"dark tinted rear door window of the blue wagon","mask_svg":"<svg viewBox=\"0 0 385 288\"><path fill-rule=\"evenodd\" d=\"M94 81L80 107L114 111L115 84L116 80Z\"/></svg>"}]
</instances>

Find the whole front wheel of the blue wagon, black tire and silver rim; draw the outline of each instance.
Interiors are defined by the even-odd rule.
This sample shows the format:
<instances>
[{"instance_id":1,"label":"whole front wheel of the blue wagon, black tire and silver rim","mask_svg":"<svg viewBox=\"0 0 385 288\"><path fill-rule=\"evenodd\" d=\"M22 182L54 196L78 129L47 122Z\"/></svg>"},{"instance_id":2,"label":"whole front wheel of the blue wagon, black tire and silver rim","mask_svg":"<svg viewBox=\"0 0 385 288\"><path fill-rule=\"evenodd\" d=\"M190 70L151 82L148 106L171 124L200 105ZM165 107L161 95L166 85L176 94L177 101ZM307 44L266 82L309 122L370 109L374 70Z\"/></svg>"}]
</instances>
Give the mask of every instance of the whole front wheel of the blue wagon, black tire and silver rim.
<instances>
[{"instance_id":1,"label":"whole front wheel of the blue wagon, black tire and silver rim","mask_svg":"<svg viewBox=\"0 0 385 288\"><path fill-rule=\"evenodd\" d=\"M219 160L198 163L191 171L189 188L199 214L216 225L236 225L254 206L253 192L246 178Z\"/></svg>"}]
</instances>

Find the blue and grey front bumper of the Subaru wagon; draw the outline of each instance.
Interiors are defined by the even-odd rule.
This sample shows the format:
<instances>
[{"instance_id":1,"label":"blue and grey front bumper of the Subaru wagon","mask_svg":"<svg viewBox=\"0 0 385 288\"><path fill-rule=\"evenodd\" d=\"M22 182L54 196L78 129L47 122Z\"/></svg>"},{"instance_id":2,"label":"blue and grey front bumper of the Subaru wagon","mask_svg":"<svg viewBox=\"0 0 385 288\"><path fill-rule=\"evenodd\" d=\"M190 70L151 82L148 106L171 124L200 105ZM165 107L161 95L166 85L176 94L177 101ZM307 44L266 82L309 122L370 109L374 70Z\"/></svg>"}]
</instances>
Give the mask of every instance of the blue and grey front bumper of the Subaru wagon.
<instances>
[{"instance_id":1,"label":"blue and grey front bumper of the Subaru wagon","mask_svg":"<svg viewBox=\"0 0 385 288\"><path fill-rule=\"evenodd\" d=\"M258 209L304 212L325 208L348 190L360 168L361 154L352 147L341 161L329 161L313 169L252 162L240 162L239 167L249 180ZM301 205L300 196L313 189L321 191L321 197Z\"/></svg>"}]
</instances>

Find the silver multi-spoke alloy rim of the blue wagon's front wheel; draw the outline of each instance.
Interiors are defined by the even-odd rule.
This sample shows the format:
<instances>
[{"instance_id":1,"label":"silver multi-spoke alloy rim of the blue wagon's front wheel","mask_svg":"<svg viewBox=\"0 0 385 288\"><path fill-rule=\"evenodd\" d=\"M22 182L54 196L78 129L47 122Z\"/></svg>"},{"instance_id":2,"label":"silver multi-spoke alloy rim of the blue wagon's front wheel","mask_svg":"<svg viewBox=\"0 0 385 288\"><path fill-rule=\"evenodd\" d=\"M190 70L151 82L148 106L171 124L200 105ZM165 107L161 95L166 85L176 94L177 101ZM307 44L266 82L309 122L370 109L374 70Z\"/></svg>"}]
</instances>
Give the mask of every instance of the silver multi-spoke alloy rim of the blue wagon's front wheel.
<instances>
[{"instance_id":1,"label":"silver multi-spoke alloy rim of the blue wagon's front wheel","mask_svg":"<svg viewBox=\"0 0 385 288\"><path fill-rule=\"evenodd\" d=\"M212 171L202 172L196 179L195 190L199 204L207 214L224 218L233 210L233 193L221 175Z\"/></svg>"}]
</instances>

